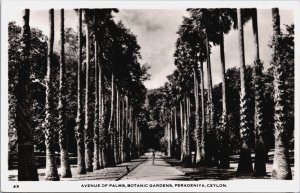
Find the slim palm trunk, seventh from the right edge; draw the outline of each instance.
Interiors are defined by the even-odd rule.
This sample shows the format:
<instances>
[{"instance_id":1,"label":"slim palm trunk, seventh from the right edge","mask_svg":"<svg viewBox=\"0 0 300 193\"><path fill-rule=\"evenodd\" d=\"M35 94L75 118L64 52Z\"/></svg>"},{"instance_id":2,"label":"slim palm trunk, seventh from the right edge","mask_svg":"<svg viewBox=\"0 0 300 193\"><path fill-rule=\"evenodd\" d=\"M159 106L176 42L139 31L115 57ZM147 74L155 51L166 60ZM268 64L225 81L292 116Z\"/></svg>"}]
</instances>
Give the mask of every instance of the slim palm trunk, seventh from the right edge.
<instances>
[{"instance_id":1,"label":"slim palm trunk, seventh from the right edge","mask_svg":"<svg viewBox=\"0 0 300 193\"><path fill-rule=\"evenodd\" d=\"M196 164L200 164L201 153L200 153L200 111L199 111L199 79L198 79L198 68L197 63L194 65L194 95L195 95L195 138L196 138Z\"/></svg>"}]
</instances>

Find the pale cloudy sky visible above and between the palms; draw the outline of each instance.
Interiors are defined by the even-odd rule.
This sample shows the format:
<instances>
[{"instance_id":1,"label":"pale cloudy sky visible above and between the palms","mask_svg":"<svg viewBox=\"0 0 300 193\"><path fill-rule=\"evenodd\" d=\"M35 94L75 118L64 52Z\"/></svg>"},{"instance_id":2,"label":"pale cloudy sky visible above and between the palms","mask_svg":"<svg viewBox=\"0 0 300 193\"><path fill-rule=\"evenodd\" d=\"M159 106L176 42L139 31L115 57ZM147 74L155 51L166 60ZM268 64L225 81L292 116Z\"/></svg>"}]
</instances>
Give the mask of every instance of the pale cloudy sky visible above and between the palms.
<instances>
[{"instance_id":1,"label":"pale cloudy sky visible above and between the palms","mask_svg":"<svg viewBox=\"0 0 300 193\"><path fill-rule=\"evenodd\" d=\"M260 45L260 58L264 67L269 67L272 50L268 44L272 36L272 15L270 9L258 9L258 34ZM55 34L59 34L59 10L55 10ZM114 14L115 21L122 21L136 36L141 46L141 64L147 63L151 66L149 74L151 79L145 81L148 89L163 86L167 76L171 74L176 66L174 65L173 54L175 42L178 38L177 30L183 21L183 16L188 13L182 9L120 9ZM14 11L9 15L9 21L16 21L22 24L22 12ZM293 23L294 15L292 10L280 10L281 28L284 24ZM77 31L78 16L72 10L65 10L65 27L72 27ZM41 29L44 34L49 34L48 10L31 10L30 26ZM252 23L244 26L245 61L251 65L254 60L254 41ZM59 35L55 35L55 47L58 46ZM226 69L239 65L238 33L231 30L224 37ZM211 50L212 81L213 84L221 82L220 47L213 46ZM206 70L206 69L204 69Z\"/></svg>"}]
</instances>

